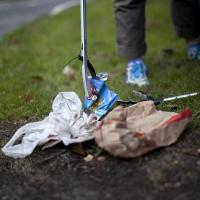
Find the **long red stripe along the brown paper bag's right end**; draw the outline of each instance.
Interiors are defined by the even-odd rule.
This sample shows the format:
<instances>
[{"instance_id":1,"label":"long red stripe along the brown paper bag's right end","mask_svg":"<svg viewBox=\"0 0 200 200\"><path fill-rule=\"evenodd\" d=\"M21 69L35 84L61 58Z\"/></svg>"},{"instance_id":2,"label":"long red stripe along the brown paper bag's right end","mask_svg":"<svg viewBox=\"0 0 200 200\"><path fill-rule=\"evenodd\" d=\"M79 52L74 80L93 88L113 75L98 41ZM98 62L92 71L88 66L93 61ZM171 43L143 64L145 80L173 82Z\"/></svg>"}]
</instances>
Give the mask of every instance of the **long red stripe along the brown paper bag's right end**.
<instances>
[{"instance_id":1,"label":"long red stripe along the brown paper bag's right end","mask_svg":"<svg viewBox=\"0 0 200 200\"><path fill-rule=\"evenodd\" d=\"M183 112L178 113L177 115L172 116L169 118L166 122L164 122L161 127L166 127L169 126L170 124L174 122L181 121L186 118L191 118L192 117L192 111L189 108L186 108Z\"/></svg>"}]
</instances>

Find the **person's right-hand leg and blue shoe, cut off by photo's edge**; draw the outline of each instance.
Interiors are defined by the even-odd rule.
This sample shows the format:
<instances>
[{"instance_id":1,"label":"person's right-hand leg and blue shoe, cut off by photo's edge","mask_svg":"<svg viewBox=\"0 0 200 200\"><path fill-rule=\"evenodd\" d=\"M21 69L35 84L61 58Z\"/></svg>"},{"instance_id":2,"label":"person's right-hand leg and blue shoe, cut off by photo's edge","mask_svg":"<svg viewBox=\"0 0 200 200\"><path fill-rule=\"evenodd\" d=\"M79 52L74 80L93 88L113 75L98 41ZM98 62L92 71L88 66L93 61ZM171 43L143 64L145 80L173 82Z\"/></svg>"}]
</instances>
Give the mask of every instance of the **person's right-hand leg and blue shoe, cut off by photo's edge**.
<instances>
[{"instance_id":1,"label":"person's right-hand leg and blue shoe, cut off by photo's edge","mask_svg":"<svg viewBox=\"0 0 200 200\"><path fill-rule=\"evenodd\" d=\"M172 0L172 20L177 36L186 40L188 55L200 60L199 0Z\"/></svg>"}]
</instances>

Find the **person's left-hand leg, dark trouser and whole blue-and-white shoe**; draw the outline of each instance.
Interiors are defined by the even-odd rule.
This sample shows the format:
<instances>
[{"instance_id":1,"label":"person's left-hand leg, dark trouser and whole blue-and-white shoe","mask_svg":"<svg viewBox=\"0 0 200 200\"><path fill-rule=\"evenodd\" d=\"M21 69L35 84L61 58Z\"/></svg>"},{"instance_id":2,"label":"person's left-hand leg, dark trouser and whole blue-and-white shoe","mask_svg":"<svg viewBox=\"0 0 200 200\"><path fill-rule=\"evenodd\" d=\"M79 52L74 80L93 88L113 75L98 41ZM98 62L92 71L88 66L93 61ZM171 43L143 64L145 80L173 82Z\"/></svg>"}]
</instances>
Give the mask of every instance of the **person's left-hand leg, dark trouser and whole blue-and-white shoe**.
<instances>
[{"instance_id":1,"label":"person's left-hand leg, dark trouser and whole blue-and-white shoe","mask_svg":"<svg viewBox=\"0 0 200 200\"><path fill-rule=\"evenodd\" d=\"M145 43L146 0L114 0L117 54L128 60L127 83L145 85L146 66L142 60Z\"/></svg>"}]
</instances>

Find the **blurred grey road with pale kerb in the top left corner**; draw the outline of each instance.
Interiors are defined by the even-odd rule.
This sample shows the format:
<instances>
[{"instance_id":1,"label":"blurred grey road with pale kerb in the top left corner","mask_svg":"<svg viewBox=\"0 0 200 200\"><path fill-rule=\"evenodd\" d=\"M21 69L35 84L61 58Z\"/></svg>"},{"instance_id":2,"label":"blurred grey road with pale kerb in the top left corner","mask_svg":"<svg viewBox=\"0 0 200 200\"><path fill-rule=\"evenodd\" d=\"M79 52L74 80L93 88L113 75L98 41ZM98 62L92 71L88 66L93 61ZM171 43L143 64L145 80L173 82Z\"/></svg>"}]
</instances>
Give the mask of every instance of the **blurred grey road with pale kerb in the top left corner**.
<instances>
[{"instance_id":1,"label":"blurred grey road with pale kerb in the top left corner","mask_svg":"<svg viewBox=\"0 0 200 200\"><path fill-rule=\"evenodd\" d=\"M54 15L79 0L0 0L0 36L44 15Z\"/></svg>"}]
</instances>

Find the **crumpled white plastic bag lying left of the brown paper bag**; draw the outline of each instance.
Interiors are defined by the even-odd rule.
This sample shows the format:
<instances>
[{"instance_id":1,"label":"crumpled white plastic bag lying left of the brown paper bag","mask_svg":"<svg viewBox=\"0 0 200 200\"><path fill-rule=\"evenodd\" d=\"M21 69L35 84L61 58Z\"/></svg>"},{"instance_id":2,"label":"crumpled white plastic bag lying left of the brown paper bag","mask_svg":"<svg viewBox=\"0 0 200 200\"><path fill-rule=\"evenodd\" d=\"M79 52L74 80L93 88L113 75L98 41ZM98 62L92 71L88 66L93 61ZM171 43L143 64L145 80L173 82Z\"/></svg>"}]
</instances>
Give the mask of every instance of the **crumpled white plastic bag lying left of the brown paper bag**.
<instances>
[{"instance_id":1,"label":"crumpled white plastic bag lying left of the brown paper bag","mask_svg":"<svg viewBox=\"0 0 200 200\"><path fill-rule=\"evenodd\" d=\"M53 111L40 122L29 123L16 131L2 148L5 155L24 158L36 146L51 147L59 142L64 145L92 139L96 128L96 116L86 114L74 92L61 92L54 99Z\"/></svg>"}]
</instances>

